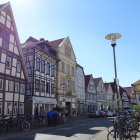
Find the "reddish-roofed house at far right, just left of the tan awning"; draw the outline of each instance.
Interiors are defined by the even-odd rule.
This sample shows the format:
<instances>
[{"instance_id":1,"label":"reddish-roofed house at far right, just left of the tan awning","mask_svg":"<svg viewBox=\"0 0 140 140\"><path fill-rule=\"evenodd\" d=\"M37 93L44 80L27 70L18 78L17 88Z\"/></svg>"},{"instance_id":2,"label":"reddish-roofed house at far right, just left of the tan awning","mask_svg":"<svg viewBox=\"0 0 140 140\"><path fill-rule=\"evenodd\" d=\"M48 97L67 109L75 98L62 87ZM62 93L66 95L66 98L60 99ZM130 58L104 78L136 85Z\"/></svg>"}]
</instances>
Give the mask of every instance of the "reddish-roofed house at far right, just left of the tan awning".
<instances>
[{"instance_id":1,"label":"reddish-roofed house at far right, just left of the tan awning","mask_svg":"<svg viewBox=\"0 0 140 140\"><path fill-rule=\"evenodd\" d=\"M137 96L136 96L136 91L134 90L133 87L123 87L123 89L126 91L129 102L130 102L130 108L133 107L133 105L137 105Z\"/></svg>"}]
</instances>

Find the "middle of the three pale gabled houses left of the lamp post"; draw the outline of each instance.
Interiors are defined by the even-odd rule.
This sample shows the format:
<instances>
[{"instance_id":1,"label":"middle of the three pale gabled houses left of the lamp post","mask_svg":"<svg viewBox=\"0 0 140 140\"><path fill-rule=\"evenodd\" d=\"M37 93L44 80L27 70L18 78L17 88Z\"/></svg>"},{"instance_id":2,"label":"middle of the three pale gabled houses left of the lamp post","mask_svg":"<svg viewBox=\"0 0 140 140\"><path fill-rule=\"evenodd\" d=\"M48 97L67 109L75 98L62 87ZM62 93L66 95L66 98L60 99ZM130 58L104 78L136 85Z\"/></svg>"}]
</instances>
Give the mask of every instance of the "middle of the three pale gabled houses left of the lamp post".
<instances>
[{"instance_id":1,"label":"middle of the three pale gabled houses left of the lamp post","mask_svg":"<svg viewBox=\"0 0 140 140\"><path fill-rule=\"evenodd\" d=\"M106 89L101 77L94 78L95 89L97 93L97 109L106 109Z\"/></svg>"}]
</instances>

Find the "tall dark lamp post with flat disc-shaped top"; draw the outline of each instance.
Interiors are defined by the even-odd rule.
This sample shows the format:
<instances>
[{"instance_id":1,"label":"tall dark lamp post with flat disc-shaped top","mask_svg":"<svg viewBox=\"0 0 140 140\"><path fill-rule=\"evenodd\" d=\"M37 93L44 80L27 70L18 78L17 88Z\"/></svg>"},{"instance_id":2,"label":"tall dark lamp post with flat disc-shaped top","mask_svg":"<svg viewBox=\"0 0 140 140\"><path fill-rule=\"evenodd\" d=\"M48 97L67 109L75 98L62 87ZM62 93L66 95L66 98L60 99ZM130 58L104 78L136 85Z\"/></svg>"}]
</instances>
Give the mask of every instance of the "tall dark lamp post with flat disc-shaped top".
<instances>
[{"instance_id":1,"label":"tall dark lamp post with flat disc-shaped top","mask_svg":"<svg viewBox=\"0 0 140 140\"><path fill-rule=\"evenodd\" d=\"M115 55L115 47L116 47L116 39L119 39L121 37L118 33L111 33L105 36L105 39L111 41L111 46L113 48L113 58L114 58L114 71L115 71L115 93L117 94L117 109L119 110L119 83L117 79L117 67L116 67L116 55ZM119 113L117 113L118 118L118 127L119 127L119 140L122 140L121 136L121 124L120 124L120 116Z\"/></svg>"}]
</instances>

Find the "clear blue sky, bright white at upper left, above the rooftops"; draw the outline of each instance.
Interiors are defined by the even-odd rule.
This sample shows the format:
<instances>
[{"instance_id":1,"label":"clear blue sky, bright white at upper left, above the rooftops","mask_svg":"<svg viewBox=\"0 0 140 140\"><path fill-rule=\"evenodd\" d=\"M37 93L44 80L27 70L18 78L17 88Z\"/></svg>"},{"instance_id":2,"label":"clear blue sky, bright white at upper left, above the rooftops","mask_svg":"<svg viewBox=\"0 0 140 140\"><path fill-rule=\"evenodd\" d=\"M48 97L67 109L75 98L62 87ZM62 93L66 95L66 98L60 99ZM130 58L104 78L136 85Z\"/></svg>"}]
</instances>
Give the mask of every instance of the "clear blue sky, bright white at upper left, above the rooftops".
<instances>
[{"instance_id":1,"label":"clear blue sky, bright white at upper left, above the rooftops","mask_svg":"<svg viewBox=\"0 0 140 140\"><path fill-rule=\"evenodd\" d=\"M113 48L105 36L120 33L115 48L119 84L128 87L140 79L140 0L9 1L21 43L29 36L49 41L69 36L85 74L112 82Z\"/></svg>"}]
</instances>

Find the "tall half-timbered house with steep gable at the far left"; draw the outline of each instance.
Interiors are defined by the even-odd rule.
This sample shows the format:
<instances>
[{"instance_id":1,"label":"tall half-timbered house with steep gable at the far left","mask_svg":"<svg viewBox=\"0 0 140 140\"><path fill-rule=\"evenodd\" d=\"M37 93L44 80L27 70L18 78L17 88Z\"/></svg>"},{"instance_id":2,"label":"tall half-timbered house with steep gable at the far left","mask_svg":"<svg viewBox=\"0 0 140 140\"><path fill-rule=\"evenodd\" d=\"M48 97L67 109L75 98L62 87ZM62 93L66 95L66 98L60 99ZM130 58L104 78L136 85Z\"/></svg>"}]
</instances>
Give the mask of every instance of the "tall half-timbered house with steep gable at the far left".
<instances>
[{"instance_id":1,"label":"tall half-timbered house with steep gable at the far left","mask_svg":"<svg viewBox=\"0 0 140 140\"><path fill-rule=\"evenodd\" d=\"M10 3L0 5L0 117L24 114L25 72Z\"/></svg>"}]
</instances>

